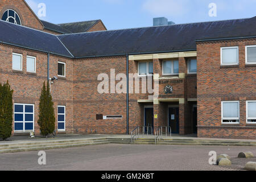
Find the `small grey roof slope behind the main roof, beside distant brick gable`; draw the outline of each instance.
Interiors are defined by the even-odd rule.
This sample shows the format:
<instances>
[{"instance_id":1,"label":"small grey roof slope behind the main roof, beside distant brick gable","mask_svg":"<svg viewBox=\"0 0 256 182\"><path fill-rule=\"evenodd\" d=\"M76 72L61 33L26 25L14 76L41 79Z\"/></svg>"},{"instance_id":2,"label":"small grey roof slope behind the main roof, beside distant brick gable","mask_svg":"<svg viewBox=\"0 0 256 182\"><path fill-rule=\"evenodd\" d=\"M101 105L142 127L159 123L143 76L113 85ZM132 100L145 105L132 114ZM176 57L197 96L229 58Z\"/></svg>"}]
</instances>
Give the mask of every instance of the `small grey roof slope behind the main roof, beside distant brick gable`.
<instances>
[{"instance_id":1,"label":"small grey roof slope behind the main roof, beside distant brick gable","mask_svg":"<svg viewBox=\"0 0 256 182\"><path fill-rule=\"evenodd\" d=\"M74 23L61 23L59 26L69 30L72 33L80 33L88 31L94 24L98 23L100 20L91 20L85 22L74 22Z\"/></svg>"}]
</instances>

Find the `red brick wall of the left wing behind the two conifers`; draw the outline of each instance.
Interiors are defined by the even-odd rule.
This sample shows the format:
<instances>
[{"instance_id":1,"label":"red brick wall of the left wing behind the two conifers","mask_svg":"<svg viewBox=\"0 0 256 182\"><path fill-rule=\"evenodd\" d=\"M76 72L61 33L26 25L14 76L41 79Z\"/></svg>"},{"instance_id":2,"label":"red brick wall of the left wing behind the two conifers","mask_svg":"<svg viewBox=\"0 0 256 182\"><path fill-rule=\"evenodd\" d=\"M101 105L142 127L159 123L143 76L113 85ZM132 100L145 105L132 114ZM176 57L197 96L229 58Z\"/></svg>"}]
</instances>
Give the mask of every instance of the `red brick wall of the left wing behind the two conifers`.
<instances>
[{"instance_id":1,"label":"red brick wall of the left wing behind the two conifers","mask_svg":"<svg viewBox=\"0 0 256 182\"><path fill-rule=\"evenodd\" d=\"M12 53L23 55L23 71L13 71ZM36 74L27 73L26 56L36 57ZM64 57L50 56L50 77L57 76L57 61L66 63L66 78L54 81L51 85L51 94L55 107L56 129L57 129L57 105L66 106L66 130L73 132L73 64L72 60ZM26 49L14 48L0 44L0 82L9 80L14 90L14 103L35 104L35 133L39 134L38 109L39 98L43 82L47 81L47 55L40 52L28 51Z\"/></svg>"}]
</instances>

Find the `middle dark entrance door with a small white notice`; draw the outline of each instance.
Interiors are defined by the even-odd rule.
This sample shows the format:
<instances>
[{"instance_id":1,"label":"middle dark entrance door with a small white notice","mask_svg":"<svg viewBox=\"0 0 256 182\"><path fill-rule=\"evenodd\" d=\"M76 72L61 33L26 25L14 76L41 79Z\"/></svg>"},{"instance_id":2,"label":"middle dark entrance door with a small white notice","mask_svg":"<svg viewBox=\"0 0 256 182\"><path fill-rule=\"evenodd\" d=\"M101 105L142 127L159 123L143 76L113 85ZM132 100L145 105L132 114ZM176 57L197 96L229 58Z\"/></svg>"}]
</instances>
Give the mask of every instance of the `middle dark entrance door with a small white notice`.
<instances>
[{"instance_id":1,"label":"middle dark entrance door with a small white notice","mask_svg":"<svg viewBox=\"0 0 256 182\"><path fill-rule=\"evenodd\" d=\"M179 108L168 108L168 125L171 126L172 133L179 134Z\"/></svg>"}]
</instances>

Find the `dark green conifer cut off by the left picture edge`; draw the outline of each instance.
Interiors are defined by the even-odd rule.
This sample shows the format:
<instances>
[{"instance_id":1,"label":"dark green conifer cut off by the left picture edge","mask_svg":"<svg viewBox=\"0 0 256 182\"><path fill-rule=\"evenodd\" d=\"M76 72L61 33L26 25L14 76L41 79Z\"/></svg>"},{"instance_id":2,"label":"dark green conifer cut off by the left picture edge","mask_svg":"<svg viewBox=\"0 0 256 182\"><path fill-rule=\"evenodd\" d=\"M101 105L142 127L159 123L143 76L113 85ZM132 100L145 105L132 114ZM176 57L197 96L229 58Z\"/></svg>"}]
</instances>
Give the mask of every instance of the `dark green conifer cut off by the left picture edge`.
<instances>
[{"instance_id":1,"label":"dark green conifer cut off by the left picture edge","mask_svg":"<svg viewBox=\"0 0 256 182\"><path fill-rule=\"evenodd\" d=\"M7 81L0 84L0 138L11 137L13 130L13 90Z\"/></svg>"}]
</instances>

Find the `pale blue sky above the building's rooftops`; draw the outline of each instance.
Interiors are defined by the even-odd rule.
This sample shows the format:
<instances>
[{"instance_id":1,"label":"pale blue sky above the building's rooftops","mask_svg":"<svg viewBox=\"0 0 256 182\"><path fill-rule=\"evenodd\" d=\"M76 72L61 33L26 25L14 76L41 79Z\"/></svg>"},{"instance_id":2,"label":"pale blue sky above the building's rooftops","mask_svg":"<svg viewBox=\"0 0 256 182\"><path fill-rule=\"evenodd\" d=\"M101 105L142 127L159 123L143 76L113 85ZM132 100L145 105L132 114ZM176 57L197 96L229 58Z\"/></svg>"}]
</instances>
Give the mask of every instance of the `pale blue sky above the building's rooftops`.
<instances>
[{"instance_id":1,"label":"pale blue sky above the building's rooftops","mask_svg":"<svg viewBox=\"0 0 256 182\"><path fill-rule=\"evenodd\" d=\"M152 26L152 18L164 16L180 23L205 22L256 16L256 0L26 0L38 14L46 4L52 23L101 19L108 30ZM217 16L210 17L209 4L216 3Z\"/></svg>"}]
</instances>

